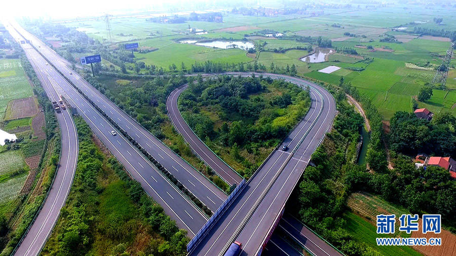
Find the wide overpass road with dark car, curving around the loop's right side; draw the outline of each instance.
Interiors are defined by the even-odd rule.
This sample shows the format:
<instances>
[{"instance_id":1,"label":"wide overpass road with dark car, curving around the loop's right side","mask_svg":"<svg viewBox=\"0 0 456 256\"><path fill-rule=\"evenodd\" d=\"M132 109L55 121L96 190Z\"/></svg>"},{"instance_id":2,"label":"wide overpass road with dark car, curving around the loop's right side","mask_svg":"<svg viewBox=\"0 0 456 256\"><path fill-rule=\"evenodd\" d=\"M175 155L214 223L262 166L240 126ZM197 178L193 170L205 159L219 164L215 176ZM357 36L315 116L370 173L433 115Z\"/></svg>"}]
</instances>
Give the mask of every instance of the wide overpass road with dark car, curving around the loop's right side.
<instances>
[{"instance_id":1,"label":"wide overpass road with dark car, curving around the loop's right side","mask_svg":"<svg viewBox=\"0 0 456 256\"><path fill-rule=\"evenodd\" d=\"M307 115L257 170L225 214L191 251L191 255L222 254L233 240L243 243L243 255L256 255L262 250L267 242L266 236L272 233L273 224L278 221L279 214L312 153L332 124L336 111L335 100L325 89L295 77L269 73L262 75L285 79L303 88L309 84L311 107ZM283 145L288 145L289 150L282 151Z\"/></svg>"}]
</instances>

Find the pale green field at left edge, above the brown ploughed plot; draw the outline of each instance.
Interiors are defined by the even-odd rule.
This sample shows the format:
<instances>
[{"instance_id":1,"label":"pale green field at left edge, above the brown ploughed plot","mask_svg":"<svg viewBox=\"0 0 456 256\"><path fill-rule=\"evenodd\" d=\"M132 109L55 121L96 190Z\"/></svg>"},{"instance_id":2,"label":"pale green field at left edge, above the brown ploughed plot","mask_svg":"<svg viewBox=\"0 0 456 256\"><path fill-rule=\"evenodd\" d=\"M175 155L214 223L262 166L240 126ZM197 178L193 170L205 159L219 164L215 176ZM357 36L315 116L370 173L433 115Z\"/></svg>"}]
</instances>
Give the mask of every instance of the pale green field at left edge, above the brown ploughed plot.
<instances>
[{"instance_id":1,"label":"pale green field at left edge, above the brown ploughed plot","mask_svg":"<svg viewBox=\"0 0 456 256\"><path fill-rule=\"evenodd\" d=\"M0 59L0 92L0 120L9 101L33 95L20 60Z\"/></svg>"}]
</instances>

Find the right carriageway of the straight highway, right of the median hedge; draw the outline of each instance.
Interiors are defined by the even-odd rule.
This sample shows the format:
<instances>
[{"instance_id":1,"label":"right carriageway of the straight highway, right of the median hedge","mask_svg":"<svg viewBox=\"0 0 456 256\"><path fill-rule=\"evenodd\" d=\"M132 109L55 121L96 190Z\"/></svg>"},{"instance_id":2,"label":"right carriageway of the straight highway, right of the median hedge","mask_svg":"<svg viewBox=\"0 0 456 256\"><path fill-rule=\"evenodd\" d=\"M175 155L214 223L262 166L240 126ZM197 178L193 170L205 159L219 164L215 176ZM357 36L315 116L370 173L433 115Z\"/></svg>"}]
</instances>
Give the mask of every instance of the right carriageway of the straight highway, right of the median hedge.
<instances>
[{"instance_id":1,"label":"right carriageway of the straight highway, right of the median hedge","mask_svg":"<svg viewBox=\"0 0 456 256\"><path fill-rule=\"evenodd\" d=\"M150 134L135 119L130 117L115 103L95 89L89 82L66 65L66 62L57 53L46 46L39 38L28 33L19 25L15 25L22 35L27 35L32 44L56 66L66 78L81 89L99 108L119 124L136 142L152 155L168 172L179 180L189 191L200 199L208 208L215 211L226 199L227 195L198 172L192 165L187 163L163 142ZM61 87L64 92L76 92L75 89L64 79ZM85 106L78 106L85 107ZM87 107L87 106L86 106Z\"/></svg>"}]
</instances>

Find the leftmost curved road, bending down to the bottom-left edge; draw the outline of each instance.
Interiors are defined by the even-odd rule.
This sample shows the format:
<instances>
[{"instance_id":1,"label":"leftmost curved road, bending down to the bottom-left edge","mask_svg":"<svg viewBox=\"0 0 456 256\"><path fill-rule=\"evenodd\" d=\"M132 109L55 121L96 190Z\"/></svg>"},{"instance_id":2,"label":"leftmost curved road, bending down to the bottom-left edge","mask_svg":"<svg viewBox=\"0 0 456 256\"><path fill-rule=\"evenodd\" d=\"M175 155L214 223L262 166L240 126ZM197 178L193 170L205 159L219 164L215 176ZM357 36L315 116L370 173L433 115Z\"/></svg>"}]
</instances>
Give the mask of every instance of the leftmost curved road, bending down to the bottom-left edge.
<instances>
[{"instance_id":1,"label":"leftmost curved road, bending down to the bottom-left edge","mask_svg":"<svg viewBox=\"0 0 456 256\"><path fill-rule=\"evenodd\" d=\"M16 40L22 38L14 29L11 29L11 27L7 27L7 29ZM58 102L59 98L56 90L58 85L50 79L45 65L33 57L33 52L35 50L30 45L24 44L21 46L33 66L36 75L40 79L49 99ZM40 210L36 220L30 226L26 236L17 247L15 252L16 255L38 255L40 253L41 248L43 248L46 240L51 234L52 228L57 222L60 209L65 204L66 197L68 196L73 181L79 151L76 127L68 110L62 109L62 112L57 113L56 116L60 126L62 141L57 173L43 208Z\"/></svg>"}]
</instances>

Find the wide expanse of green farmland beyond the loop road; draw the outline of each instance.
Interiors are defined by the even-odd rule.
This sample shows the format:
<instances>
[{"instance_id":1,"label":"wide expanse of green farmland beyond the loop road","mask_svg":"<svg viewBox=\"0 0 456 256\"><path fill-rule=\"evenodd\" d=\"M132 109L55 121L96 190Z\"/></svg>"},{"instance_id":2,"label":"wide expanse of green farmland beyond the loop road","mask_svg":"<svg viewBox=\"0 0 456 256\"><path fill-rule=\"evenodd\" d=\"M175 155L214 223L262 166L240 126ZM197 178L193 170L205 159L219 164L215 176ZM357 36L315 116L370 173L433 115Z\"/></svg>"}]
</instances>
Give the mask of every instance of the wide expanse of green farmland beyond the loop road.
<instances>
[{"instance_id":1,"label":"wide expanse of green farmland beyond the loop road","mask_svg":"<svg viewBox=\"0 0 456 256\"><path fill-rule=\"evenodd\" d=\"M407 11L404 11L407 10ZM239 63L258 62L269 68L296 65L298 75L311 77L324 82L337 84L340 77L350 81L360 92L368 95L384 119L388 120L395 111L411 111L412 98L420 88L429 82L434 74L433 68L440 64L441 55L449 48L448 38L420 36L413 33L393 31L393 28L405 27L412 31L410 22L416 26L432 29L456 29L454 7L411 5L386 5L382 8L365 6L350 9L324 9L324 15L307 14L278 15L275 17L244 16L223 12L223 22L186 21L179 24L163 24L147 21L142 17L113 17L111 19L114 42L138 41L142 47L157 48L157 51L135 53L137 61L163 67L171 64L178 69L181 63L187 67L196 61ZM433 22L434 17L442 17L444 24ZM102 19L87 21L69 21L65 26L86 32L89 36L103 40L107 38L105 23ZM188 33L188 27L204 29L207 34ZM309 55L308 51L288 50L284 53L271 52L272 49L292 49L308 46L307 42L293 39L281 39L261 35L262 30L275 31L284 35L323 36L332 40L332 47L355 49L359 55L347 55L341 52L327 56L325 62L306 63L299 59ZM344 33L355 36L347 36ZM385 36L395 36L398 42L380 41ZM180 40L201 39L248 39L256 44L265 44L256 55L248 55L240 49L216 49L179 44ZM372 46L375 51L366 49ZM313 46L315 49L317 46ZM373 59L363 62L363 58ZM456 61L452 61L454 65ZM426 67L424 64L427 64ZM318 72L328 66L340 67L330 74ZM362 70L362 71L355 71ZM455 102L456 71L450 70L447 80L448 91L434 91L434 96L420 102L419 107L427 107L433 112L451 112L456 114Z\"/></svg>"}]
</instances>

